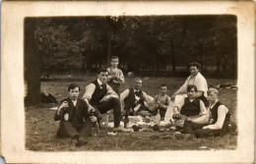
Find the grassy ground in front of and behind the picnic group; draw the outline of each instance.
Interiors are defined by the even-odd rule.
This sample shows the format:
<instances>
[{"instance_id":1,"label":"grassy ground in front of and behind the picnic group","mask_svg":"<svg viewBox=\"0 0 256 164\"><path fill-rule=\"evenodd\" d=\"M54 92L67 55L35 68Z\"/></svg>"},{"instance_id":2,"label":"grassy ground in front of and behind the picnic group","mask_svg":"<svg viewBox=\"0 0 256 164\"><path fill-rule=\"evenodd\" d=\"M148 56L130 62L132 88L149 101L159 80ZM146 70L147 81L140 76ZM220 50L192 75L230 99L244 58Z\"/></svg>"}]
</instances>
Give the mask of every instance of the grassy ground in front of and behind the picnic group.
<instances>
[{"instance_id":1,"label":"grassy ground in front of and behind the picnic group","mask_svg":"<svg viewBox=\"0 0 256 164\"><path fill-rule=\"evenodd\" d=\"M65 79L62 81L41 82L41 91L51 93L57 100L68 96L67 86L71 82L77 82L82 87L81 96L85 92L85 86L93 82L95 77L81 78L80 80ZM226 79L207 79L209 86L234 82ZM150 95L159 92L161 83L166 83L169 94L173 93L183 82L184 78L146 78L143 82L143 89ZM129 87L133 83L132 79L126 79L121 90ZM236 118L236 90L220 88L220 100L230 109L231 115ZM117 135L108 136L110 129L103 128L97 137L90 137L89 143L71 149L68 139L57 138L56 131L59 122L54 122L55 111L46 107L28 107L26 111L26 148L35 151L67 151L67 150L184 150L200 149L235 149L236 136L226 135L224 137L195 138L190 140L180 139L138 139Z\"/></svg>"}]
</instances>

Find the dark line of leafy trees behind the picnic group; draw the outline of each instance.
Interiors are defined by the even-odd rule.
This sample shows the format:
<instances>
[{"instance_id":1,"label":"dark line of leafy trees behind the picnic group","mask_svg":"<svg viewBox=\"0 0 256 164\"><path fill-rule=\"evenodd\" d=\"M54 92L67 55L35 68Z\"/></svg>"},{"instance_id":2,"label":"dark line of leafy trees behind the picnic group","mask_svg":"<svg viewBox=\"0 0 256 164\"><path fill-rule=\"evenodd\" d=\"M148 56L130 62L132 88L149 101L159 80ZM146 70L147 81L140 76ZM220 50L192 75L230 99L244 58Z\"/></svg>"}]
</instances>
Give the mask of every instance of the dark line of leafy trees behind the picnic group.
<instances>
[{"instance_id":1,"label":"dark line of leafy trees behind the picnic group","mask_svg":"<svg viewBox=\"0 0 256 164\"><path fill-rule=\"evenodd\" d=\"M204 72L236 77L235 16L36 18L25 23L28 82L33 76L37 81L41 72L47 78L59 71L90 74L107 66L111 55L120 58L124 72L177 73L197 61Z\"/></svg>"}]
</instances>

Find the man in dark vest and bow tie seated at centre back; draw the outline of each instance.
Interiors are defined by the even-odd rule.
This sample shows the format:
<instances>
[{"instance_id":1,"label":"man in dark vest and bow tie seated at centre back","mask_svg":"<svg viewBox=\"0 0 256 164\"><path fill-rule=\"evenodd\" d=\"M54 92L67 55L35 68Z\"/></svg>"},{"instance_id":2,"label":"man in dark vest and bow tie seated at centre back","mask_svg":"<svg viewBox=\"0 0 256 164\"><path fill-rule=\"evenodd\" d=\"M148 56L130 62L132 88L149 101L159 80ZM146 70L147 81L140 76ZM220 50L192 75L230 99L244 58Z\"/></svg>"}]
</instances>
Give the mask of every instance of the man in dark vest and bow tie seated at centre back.
<instances>
[{"instance_id":1,"label":"man in dark vest and bow tie seated at centre back","mask_svg":"<svg viewBox=\"0 0 256 164\"><path fill-rule=\"evenodd\" d=\"M124 105L124 110L128 111L129 115L151 115L151 111L146 106L145 102L153 102L154 98L148 95L141 89L142 80L137 78L134 81L134 86L125 89L120 94L120 99Z\"/></svg>"}]
</instances>

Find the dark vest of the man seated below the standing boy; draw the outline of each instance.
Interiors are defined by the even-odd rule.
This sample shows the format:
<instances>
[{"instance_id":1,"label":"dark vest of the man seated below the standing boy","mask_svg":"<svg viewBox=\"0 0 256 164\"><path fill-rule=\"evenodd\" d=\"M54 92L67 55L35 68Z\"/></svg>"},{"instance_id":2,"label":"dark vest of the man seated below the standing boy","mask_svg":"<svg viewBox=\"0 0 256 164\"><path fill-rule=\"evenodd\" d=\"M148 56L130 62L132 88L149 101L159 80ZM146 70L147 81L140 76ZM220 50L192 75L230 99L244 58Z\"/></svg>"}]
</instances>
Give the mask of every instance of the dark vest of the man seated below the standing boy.
<instances>
[{"instance_id":1,"label":"dark vest of the man seated below the standing boy","mask_svg":"<svg viewBox=\"0 0 256 164\"><path fill-rule=\"evenodd\" d=\"M90 104L91 105L97 105L106 93L106 84L103 84L102 88L100 88L97 81L92 82L92 83L94 83L96 85L96 90L92 95L92 99L90 101Z\"/></svg>"}]
</instances>

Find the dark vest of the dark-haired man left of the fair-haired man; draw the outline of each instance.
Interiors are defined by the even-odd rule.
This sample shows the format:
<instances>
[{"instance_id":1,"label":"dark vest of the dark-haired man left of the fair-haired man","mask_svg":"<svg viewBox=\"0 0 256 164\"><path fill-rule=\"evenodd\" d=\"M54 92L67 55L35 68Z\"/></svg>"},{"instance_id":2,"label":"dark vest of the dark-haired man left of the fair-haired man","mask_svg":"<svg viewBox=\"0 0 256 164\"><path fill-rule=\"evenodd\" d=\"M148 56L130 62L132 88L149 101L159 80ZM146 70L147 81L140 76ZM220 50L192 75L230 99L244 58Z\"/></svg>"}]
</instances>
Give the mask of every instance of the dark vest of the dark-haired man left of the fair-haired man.
<instances>
[{"instance_id":1,"label":"dark vest of the dark-haired man left of the fair-haired man","mask_svg":"<svg viewBox=\"0 0 256 164\"><path fill-rule=\"evenodd\" d=\"M184 105L181 108L180 114L185 116L196 116L200 113L200 99L195 98L192 102L186 97Z\"/></svg>"}]
</instances>

